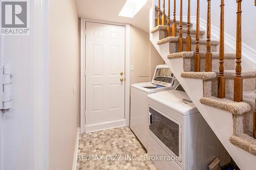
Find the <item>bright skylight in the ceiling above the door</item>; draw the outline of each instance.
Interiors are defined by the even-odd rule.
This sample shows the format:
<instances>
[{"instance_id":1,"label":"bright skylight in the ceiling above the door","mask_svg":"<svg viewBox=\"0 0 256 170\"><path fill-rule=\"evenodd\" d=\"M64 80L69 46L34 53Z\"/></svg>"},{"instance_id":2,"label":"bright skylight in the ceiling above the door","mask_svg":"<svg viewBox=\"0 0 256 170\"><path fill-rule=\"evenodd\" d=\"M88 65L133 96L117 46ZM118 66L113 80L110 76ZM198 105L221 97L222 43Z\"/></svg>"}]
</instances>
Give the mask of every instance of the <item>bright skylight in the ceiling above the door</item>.
<instances>
[{"instance_id":1,"label":"bright skylight in the ceiling above the door","mask_svg":"<svg viewBox=\"0 0 256 170\"><path fill-rule=\"evenodd\" d=\"M118 16L133 18L146 4L146 0L127 0Z\"/></svg>"}]
</instances>

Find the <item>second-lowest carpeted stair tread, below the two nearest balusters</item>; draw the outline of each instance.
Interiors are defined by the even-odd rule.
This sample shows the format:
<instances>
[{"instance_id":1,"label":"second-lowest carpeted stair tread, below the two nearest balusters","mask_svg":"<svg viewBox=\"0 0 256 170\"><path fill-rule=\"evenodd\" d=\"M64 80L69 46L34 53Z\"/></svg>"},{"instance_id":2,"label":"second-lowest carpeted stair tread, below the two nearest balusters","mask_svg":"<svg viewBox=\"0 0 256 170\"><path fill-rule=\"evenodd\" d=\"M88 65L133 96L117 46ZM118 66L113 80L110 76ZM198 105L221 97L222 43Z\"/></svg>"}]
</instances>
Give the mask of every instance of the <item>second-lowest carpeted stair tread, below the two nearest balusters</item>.
<instances>
[{"instance_id":1,"label":"second-lowest carpeted stair tread, below the two nearest balusters","mask_svg":"<svg viewBox=\"0 0 256 170\"><path fill-rule=\"evenodd\" d=\"M249 112L251 107L246 102L234 102L229 99L220 99L215 96L201 98L200 102L204 105L215 107L217 109L228 111L232 114L243 114Z\"/></svg>"}]
</instances>

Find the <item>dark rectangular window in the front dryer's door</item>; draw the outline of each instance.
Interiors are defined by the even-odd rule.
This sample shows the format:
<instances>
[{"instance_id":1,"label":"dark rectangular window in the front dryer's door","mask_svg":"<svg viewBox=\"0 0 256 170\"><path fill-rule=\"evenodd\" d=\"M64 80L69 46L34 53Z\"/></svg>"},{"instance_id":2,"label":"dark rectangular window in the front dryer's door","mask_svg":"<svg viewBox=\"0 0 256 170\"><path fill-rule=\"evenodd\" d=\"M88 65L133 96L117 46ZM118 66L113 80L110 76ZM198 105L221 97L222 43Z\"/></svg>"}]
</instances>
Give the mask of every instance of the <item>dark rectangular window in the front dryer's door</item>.
<instances>
[{"instance_id":1,"label":"dark rectangular window in the front dryer's door","mask_svg":"<svg viewBox=\"0 0 256 170\"><path fill-rule=\"evenodd\" d=\"M179 155L180 126L170 117L149 107L150 131L176 156Z\"/></svg>"}]
</instances>

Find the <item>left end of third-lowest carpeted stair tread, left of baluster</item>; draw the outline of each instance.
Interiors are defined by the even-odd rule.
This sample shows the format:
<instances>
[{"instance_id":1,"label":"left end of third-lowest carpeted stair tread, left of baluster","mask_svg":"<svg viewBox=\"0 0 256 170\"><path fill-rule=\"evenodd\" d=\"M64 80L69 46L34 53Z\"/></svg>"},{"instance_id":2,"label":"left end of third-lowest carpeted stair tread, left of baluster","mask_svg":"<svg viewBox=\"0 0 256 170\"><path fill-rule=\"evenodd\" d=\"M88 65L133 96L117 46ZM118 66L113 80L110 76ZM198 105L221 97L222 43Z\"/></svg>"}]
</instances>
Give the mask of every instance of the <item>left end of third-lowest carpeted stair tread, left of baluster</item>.
<instances>
[{"instance_id":1,"label":"left end of third-lowest carpeted stair tread, left of baluster","mask_svg":"<svg viewBox=\"0 0 256 170\"><path fill-rule=\"evenodd\" d=\"M216 72L181 72L182 78L214 80L217 78Z\"/></svg>"}]
</instances>

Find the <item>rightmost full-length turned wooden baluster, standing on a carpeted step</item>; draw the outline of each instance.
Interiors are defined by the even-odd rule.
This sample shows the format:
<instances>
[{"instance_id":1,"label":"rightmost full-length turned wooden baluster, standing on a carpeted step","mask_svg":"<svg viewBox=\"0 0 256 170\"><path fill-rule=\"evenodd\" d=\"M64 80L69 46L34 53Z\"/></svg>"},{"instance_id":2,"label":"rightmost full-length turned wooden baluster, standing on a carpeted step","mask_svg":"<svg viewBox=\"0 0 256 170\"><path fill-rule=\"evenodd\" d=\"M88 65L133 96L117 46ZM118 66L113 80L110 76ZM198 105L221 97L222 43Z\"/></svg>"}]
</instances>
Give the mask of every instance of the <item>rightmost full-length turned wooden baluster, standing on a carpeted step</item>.
<instances>
[{"instance_id":1,"label":"rightmost full-length turned wooden baluster, standing on a carpeted step","mask_svg":"<svg viewBox=\"0 0 256 170\"><path fill-rule=\"evenodd\" d=\"M237 47L236 47L236 77L234 77L234 101L243 101L243 78L241 77L241 58L242 58L242 35L241 35L241 24L242 24L242 0L237 0Z\"/></svg>"}]
</instances>

